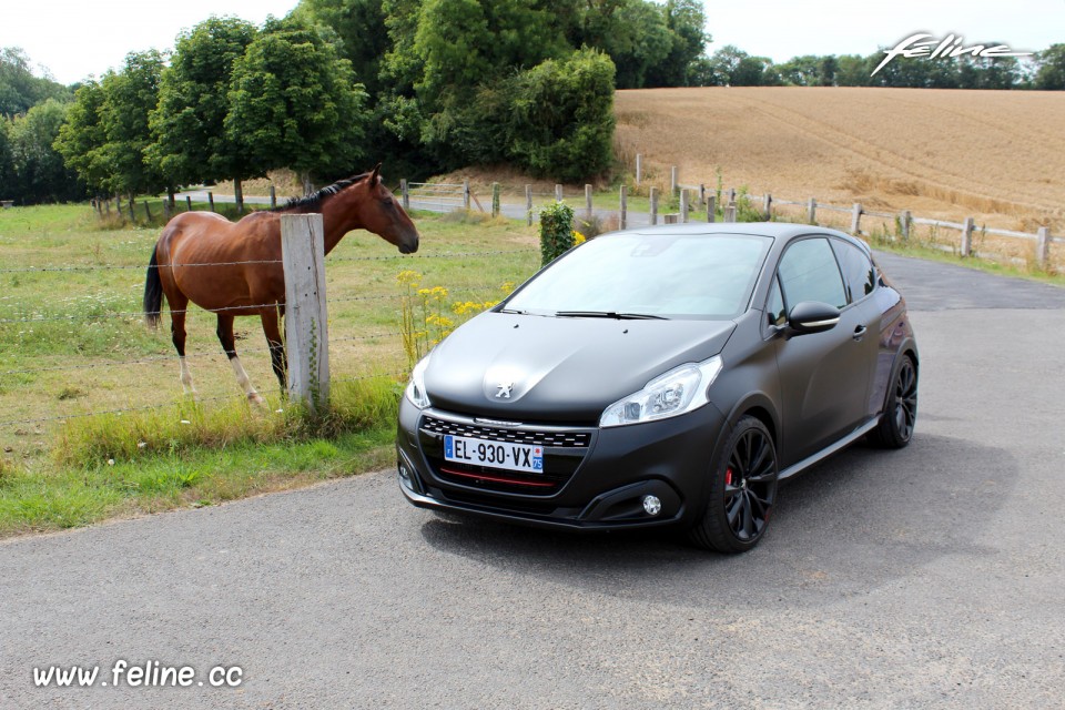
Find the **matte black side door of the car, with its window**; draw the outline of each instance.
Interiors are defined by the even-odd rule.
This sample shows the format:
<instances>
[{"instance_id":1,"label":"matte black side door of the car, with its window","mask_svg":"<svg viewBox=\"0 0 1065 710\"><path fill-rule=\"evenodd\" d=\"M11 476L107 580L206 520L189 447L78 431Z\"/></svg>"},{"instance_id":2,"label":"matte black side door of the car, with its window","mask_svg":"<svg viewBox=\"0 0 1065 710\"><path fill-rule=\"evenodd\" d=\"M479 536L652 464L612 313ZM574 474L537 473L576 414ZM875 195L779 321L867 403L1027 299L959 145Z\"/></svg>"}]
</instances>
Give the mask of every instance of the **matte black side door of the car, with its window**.
<instances>
[{"instance_id":1,"label":"matte black side door of the car, with its window","mask_svg":"<svg viewBox=\"0 0 1065 710\"><path fill-rule=\"evenodd\" d=\"M850 307L848 288L828 236L793 242L777 268L781 318L797 303L816 301L841 310L835 327L777 337L781 390L781 458L802 460L850 433L865 416L870 378L876 357L879 321L864 308ZM871 355L870 355L871 353Z\"/></svg>"}]
</instances>

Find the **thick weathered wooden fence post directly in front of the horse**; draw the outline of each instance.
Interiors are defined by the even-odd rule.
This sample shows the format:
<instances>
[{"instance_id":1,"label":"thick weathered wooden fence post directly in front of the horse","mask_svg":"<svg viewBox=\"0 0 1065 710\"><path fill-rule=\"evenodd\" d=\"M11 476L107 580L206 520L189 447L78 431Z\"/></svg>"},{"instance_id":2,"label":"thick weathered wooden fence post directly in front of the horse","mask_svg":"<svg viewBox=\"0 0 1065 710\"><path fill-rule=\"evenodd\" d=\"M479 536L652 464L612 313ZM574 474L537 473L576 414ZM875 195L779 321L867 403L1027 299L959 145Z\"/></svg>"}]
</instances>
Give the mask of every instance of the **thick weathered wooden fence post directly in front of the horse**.
<instances>
[{"instance_id":1,"label":"thick weathered wooden fence post directly in front of the horse","mask_svg":"<svg viewBox=\"0 0 1065 710\"><path fill-rule=\"evenodd\" d=\"M285 268L288 395L317 410L329 398L329 334L325 307L325 230L321 214L281 215Z\"/></svg>"}]
</instances>

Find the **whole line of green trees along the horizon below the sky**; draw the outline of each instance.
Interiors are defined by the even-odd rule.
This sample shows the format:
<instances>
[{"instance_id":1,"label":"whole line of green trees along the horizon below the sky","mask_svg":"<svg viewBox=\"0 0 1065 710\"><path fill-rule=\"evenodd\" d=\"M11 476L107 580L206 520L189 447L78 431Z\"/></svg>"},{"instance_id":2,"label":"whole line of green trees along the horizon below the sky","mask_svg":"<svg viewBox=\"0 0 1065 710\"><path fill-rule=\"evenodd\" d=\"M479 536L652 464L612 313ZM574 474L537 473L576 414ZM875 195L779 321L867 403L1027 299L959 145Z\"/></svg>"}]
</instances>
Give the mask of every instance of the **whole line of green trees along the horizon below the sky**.
<instances>
[{"instance_id":1,"label":"whole line of green trees along the horizon below the sky","mask_svg":"<svg viewBox=\"0 0 1065 710\"><path fill-rule=\"evenodd\" d=\"M212 17L73 87L0 52L0 199L69 201L242 182L307 189L377 161L422 178L511 164L607 173L616 89L693 85L1065 88L1065 44L1032 62L706 51L698 0L302 0L262 27Z\"/></svg>"}]
</instances>

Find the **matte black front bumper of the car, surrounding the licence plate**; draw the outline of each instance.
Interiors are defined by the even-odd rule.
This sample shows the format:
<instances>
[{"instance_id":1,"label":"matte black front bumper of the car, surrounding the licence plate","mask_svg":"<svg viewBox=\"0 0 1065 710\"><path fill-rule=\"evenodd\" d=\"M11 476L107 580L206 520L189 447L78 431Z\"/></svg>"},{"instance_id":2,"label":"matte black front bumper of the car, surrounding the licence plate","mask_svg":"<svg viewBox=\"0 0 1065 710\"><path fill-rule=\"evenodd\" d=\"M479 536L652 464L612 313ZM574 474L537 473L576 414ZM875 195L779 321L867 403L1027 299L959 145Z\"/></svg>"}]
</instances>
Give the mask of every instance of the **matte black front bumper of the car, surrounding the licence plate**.
<instances>
[{"instance_id":1,"label":"matte black front bumper of the car, surrounding the licence plate","mask_svg":"<svg viewBox=\"0 0 1065 710\"><path fill-rule=\"evenodd\" d=\"M570 434L587 437L582 452L546 449L546 460L558 462L555 471L547 471L558 474L556 486L525 488L500 483L506 475L495 471L487 471L485 480L450 475L437 450L440 420L478 426L474 417L419 410L406 399L400 404L396 453L399 488L407 500L423 508L576 530L693 523L704 506L710 463L726 426L712 404L680 417L605 429L510 425L518 436L545 433L548 442ZM657 515L643 509L648 495L661 501Z\"/></svg>"}]
</instances>

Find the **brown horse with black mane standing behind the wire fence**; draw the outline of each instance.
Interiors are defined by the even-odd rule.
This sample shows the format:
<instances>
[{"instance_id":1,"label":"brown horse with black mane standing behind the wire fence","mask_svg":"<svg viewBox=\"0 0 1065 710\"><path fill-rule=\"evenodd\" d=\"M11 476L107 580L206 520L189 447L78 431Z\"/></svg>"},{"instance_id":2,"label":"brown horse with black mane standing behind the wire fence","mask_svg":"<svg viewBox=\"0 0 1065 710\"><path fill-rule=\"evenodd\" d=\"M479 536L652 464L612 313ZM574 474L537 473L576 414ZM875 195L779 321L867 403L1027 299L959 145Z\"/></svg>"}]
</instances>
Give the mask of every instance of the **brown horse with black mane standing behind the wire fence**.
<instances>
[{"instance_id":1,"label":"brown horse with black mane standing behind the wire fence","mask_svg":"<svg viewBox=\"0 0 1065 710\"><path fill-rule=\"evenodd\" d=\"M189 302L216 313L219 339L248 400L263 402L236 356L233 318L257 315L270 345L270 359L282 392L286 358L280 316L285 308L285 272L281 264L281 215L321 212L325 253L352 230L367 230L399 247L418 250L418 230L395 195L381 182L381 163L368 173L342 180L317 193L268 212L254 212L235 224L213 212L185 212L163 230L144 284L144 315L158 326L163 295L181 363L181 384L195 394L185 362L185 312Z\"/></svg>"}]
</instances>

